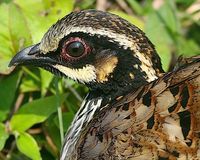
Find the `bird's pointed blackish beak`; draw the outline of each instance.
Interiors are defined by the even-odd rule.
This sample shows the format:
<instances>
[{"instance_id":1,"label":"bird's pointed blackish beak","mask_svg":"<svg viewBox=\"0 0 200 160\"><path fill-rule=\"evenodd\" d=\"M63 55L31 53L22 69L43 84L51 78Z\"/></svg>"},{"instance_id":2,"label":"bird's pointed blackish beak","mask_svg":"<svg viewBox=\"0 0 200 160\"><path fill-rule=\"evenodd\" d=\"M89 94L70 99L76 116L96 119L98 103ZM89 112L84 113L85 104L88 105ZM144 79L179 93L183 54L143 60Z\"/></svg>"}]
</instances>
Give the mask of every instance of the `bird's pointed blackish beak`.
<instances>
[{"instance_id":1,"label":"bird's pointed blackish beak","mask_svg":"<svg viewBox=\"0 0 200 160\"><path fill-rule=\"evenodd\" d=\"M44 66L55 64L55 60L41 53L40 43L27 47L18 52L10 61L9 67L17 65Z\"/></svg>"}]
</instances>

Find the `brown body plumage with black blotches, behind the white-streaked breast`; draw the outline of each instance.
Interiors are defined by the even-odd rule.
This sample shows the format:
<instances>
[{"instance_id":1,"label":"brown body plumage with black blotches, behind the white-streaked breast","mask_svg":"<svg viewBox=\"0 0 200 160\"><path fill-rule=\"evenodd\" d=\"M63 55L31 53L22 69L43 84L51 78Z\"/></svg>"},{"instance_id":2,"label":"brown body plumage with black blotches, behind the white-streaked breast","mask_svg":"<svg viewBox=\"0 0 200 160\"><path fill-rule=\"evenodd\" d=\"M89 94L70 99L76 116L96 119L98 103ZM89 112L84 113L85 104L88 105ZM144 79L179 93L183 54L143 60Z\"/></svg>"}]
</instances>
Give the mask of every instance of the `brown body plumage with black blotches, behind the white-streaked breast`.
<instances>
[{"instance_id":1,"label":"brown body plumage with black blotches, behind the white-streaked breast","mask_svg":"<svg viewBox=\"0 0 200 160\"><path fill-rule=\"evenodd\" d=\"M102 109L80 138L79 159L198 159L199 93L198 58Z\"/></svg>"}]
</instances>

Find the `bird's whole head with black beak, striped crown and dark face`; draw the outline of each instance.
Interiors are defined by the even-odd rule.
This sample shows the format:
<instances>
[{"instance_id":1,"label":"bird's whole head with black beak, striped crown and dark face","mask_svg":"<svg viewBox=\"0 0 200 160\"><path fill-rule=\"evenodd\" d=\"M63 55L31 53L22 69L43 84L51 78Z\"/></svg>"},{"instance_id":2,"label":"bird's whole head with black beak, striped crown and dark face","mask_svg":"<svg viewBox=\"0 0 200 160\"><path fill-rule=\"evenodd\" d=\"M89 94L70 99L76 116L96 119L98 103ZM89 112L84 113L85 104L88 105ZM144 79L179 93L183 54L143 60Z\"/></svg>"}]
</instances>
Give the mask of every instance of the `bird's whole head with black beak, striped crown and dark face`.
<instances>
[{"instance_id":1,"label":"bird's whole head with black beak, striped crown and dark face","mask_svg":"<svg viewBox=\"0 0 200 160\"><path fill-rule=\"evenodd\" d=\"M58 20L40 43L14 56L10 66L17 65L42 67L91 90L115 94L163 72L153 44L139 28L97 10L72 12Z\"/></svg>"}]
</instances>

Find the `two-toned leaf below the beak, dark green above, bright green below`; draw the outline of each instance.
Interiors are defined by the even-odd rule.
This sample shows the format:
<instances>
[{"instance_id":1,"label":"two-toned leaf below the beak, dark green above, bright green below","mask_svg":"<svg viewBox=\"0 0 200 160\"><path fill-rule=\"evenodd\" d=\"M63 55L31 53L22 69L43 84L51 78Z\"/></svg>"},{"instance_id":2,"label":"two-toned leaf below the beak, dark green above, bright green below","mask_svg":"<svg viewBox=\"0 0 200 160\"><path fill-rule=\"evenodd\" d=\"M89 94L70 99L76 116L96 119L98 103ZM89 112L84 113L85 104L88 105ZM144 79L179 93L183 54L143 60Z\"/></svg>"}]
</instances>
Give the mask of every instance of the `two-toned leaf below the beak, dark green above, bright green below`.
<instances>
[{"instance_id":1,"label":"two-toned leaf below the beak, dark green above, bright green below","mask_svg":"<svg viewBox=\"0 0 200 160\"><path fill-rule=\"evenodd\" d=\"M59 103L62 103L66 95L61 95ZM12 131L22 132L36 123L45 121L57 110L56 96L50 96L34 100L23 105L12 117L10 127Z\"/></svg>"}]
</instances>

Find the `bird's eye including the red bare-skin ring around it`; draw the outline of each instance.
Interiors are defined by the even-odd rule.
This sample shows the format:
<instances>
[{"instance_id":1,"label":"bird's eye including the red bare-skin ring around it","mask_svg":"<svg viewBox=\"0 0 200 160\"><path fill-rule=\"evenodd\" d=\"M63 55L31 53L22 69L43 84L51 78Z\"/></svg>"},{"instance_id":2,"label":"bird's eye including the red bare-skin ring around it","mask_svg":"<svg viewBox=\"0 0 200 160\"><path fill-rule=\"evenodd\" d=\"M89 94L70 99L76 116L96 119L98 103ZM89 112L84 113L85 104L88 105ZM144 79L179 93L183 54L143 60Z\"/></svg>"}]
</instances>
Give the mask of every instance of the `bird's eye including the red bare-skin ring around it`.
<instances>
[{"instance_id":1,"label":"bird's eye including the red bare-skin ring around it","mask_svg":"<svg viewBox=\"0 0 200 160\"><path fill-rule=\"evenodd\" d=\"M79 37L71 37L62 46L61 56L66 60L79 59L90 52L90 47Z\"/></svg>"}]
</instances>

